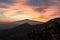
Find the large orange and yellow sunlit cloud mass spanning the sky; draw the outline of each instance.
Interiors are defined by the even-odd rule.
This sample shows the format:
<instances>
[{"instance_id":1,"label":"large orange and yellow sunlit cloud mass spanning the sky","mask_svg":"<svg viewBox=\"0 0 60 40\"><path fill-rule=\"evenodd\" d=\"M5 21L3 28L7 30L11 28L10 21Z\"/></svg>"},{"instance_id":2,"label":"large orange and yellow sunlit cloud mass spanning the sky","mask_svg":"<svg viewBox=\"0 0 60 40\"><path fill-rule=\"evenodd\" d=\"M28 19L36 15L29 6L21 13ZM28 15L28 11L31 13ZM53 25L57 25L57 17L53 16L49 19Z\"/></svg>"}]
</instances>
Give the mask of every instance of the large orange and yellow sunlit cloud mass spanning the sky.
<instances>
[{"instance_id":1,"label":"large orange and yellow sunlit cloud mass spanning the sky","mask_svg":"<svg viewBox=\"0 0 60 40\"><path fill-rule=\"evenodd\" d=\"M60 8L57 5L39 5L39 6L28 6L25 5L29 0L13 0L14 4L9 6L8 4L1 4L8 6L8 8L0 8L0 11L4 11L3 15L7 18L15 19L14 21L31 19L36 21L46 22L52 18L60 17ZM57 0L55 0L57 1ZM38 8L36 10L36 8ZM40 12L40 10L45 12ZM16 14L16 12L23 12L24 14ZM58 15L56 15L58 14ZM13 15L13 16L11 16Z\"/></svg>"}]
</instances>

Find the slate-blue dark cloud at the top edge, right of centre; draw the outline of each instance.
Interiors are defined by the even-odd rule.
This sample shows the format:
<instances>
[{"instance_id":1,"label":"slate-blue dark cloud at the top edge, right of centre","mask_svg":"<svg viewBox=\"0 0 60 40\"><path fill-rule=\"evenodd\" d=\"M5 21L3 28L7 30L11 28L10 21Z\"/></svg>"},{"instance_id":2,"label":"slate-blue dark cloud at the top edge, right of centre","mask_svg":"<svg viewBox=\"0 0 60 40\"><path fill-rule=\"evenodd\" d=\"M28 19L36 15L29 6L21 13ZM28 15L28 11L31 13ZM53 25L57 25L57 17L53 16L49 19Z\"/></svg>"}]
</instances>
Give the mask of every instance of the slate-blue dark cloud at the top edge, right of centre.
<instances>
[{"instance_id":1,"label":"slate-blue dark cloud at the top edge, right of centre","mask_svg":"<svg viewBox=\"0 0 60 40\"><path fill-rule=\"evenodd\" d=\"M27 5L33 5L33 6L39 6L39 5L44 5L48 4L48 0L30 0Z\"/></svg>"}]
</instances>

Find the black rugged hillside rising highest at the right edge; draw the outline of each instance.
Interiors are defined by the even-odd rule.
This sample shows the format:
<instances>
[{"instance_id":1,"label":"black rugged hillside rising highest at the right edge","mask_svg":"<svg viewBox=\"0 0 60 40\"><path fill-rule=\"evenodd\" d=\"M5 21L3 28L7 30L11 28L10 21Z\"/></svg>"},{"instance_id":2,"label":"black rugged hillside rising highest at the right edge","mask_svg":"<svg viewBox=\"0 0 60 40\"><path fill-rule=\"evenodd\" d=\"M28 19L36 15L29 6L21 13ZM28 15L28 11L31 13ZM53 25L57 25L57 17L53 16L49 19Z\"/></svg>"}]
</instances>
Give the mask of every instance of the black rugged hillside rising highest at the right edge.
<instances>
[{"instance_id":1,"label":"black rugged hillside rising highest at the right edge","mask_svg":"<svg viewBox=\"0 0 60 40\"><path fill-rule=\"evenodd\" d=\"M60 18L51 19L34 27L37 30L34 29L28 33L30 40L60 40Z\"/></svg>"}]
</instances>

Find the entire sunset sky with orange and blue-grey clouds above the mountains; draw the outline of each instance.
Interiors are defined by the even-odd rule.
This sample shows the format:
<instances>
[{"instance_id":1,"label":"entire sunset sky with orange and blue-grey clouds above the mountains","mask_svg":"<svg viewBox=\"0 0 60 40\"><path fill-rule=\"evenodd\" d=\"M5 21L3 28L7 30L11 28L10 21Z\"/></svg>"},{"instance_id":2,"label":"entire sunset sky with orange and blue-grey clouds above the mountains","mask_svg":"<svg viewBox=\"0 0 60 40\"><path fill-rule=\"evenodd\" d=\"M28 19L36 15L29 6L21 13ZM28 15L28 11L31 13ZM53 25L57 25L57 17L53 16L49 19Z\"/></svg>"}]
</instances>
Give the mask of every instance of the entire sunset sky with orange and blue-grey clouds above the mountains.
<instances>
[{"instance_id":1,"label":"entire sunset sky with orange and blue-grey clouds above the mountains","mask_svg":"<svg viewBox=\"0 0 60 40\"><path fill-rule=\"evenodd\" d=\"M0 0L0 22L47 22L60 17L60 0Z\"/></svg>"}]
</instances>

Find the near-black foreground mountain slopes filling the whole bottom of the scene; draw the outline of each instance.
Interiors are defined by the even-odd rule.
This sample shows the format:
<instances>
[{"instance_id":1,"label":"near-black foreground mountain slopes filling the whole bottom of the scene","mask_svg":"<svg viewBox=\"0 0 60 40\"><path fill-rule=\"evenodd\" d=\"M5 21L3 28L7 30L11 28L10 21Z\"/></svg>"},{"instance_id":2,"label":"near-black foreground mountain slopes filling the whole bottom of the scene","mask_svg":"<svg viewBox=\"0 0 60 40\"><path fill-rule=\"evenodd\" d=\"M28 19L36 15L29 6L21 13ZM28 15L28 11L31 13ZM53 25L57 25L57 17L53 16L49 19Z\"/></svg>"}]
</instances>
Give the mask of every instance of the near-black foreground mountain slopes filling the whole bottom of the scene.
<instances>
[{"instance_id":1,"label":"near-black foreground mountain slopes filling the whole bottom of the scene","mask_svg":"<svg viewBox=\"0 0 60 40\"><path fill-rule=\"evenodd\" d=\"M23 21L17 27L0 30L0 40L60 40L60 18L35 25Z\"/></svg>"}]
</instances>

